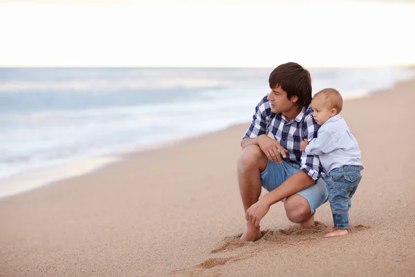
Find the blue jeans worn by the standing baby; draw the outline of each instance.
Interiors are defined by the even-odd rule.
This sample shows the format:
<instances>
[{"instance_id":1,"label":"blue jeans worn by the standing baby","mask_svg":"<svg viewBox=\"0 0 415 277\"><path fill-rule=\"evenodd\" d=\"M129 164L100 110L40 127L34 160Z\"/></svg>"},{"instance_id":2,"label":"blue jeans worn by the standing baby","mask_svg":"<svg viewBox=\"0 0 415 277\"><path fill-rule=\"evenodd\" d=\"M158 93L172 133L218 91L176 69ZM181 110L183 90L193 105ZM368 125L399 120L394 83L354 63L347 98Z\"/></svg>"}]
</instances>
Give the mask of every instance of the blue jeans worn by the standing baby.
<instances>
[{"instance_id":1,"label":"blue jeans worn by the standing baby","mask_svg":"<svg viewBox=\"0 0 415 277\"><path fill-rule=\"evenodd\" d=\"M329 202L335 228L348 229L350 227L351 197L356 192L361 179L359 166L335 168L324 177L329 190Z\"/></svg>"}]
</instances>

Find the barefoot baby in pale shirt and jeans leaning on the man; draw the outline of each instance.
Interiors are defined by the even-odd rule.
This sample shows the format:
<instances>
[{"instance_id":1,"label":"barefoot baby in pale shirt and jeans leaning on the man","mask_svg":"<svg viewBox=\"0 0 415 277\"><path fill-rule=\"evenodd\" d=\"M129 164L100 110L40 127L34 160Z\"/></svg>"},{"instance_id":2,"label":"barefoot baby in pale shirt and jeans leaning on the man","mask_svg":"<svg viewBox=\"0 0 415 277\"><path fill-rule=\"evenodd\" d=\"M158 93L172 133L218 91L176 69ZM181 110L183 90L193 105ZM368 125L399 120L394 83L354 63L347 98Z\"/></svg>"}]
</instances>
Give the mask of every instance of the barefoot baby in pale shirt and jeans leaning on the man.
<instances>
[{"instance_id":1,"label":"barefoot baby in pale shirt and jeans leaning on the man","mask_svg":"<svg viewBox=\"0 0 415 277\"><path fill-rule=\"evenodd\" d=\"M300 149L318 155L326 172L324 181L329 190L329 202L333 213L334 227L324 237L347 235L349 231L349 208L351 197L356 192L360 179L360 150L351 134L342 111L343 99L335 89L323 89L315 93L311 101L313 116L318 125L317 138L302 141Z\"/></svg>"}]
</instances>

